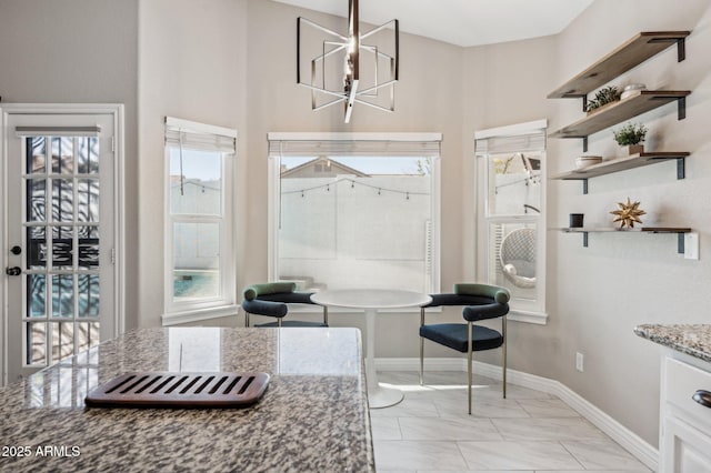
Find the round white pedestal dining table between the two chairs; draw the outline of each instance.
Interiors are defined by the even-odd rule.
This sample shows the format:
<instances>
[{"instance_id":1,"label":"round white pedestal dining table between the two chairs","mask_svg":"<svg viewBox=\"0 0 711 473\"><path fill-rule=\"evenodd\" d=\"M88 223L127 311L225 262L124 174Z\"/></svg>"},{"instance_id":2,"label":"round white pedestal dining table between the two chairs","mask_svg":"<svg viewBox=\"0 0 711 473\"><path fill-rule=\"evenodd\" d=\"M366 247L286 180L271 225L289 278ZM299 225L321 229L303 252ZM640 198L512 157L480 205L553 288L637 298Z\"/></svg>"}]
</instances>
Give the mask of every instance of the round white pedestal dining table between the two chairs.
<instances>
[{"instance_id":1,"label":"round white pedestal dining table between the two chairs","mask_svg":"<svg viewBox=\"0 0 711 473\"><path fill-rule=\"evenodd\" d=\"M311 300L320 305L359 309L365 312L365 380L371 407L388 407L402 401L404 394L381 386L375 373L375 318L379 310L419 308L432 302L428 294L394 289L336 289L317 292ZM382 314L382 312L381 312Z\"/></svg>"}]
</instances>

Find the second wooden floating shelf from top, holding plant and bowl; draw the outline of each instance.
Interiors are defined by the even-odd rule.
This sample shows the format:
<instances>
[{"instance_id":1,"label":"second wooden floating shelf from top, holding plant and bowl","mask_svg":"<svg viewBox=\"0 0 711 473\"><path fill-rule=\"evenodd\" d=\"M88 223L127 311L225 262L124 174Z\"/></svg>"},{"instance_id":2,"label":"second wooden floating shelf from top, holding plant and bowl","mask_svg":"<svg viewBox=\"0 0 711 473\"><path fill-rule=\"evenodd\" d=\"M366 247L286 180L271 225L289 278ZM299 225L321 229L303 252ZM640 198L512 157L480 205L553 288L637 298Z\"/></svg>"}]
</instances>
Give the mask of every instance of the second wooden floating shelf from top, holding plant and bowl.
<instances>
[{"instance_id":1,"label":"second wooden floating shelf from top, holding plant and bowl","mask_svg":"<svg viewBox=\"0 0 711 473\"><path fill-rule=\"evenodd\" d=\"M685 98L689 90L640 90L597 113L592 113L550 134L551 138L588 138L639 114L654 110L673 101L679 103L679 119L685 115Z\"/></svg>"}]
</instances>

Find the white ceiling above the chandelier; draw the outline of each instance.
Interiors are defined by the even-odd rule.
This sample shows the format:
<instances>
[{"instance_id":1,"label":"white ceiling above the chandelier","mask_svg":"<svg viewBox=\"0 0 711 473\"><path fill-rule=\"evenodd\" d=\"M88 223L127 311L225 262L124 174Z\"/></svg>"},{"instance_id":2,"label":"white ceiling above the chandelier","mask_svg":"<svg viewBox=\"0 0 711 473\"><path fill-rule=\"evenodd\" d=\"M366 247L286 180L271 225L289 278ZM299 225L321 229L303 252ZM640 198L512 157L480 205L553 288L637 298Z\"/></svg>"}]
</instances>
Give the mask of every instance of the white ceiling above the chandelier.
<instances>
[{"instance_id":1,"label":"white ceiling above the chandelier","mask_svg":"<svg viewBox=\"0 0 711 473\"><path fill-rule=\"evenodd\" d=\"M276 1L348 17L349 0ZM469 47L557 34L592 1L360 0L360 20L382 24L397 18L403 32Z\"/></svg>"}]
</instances>

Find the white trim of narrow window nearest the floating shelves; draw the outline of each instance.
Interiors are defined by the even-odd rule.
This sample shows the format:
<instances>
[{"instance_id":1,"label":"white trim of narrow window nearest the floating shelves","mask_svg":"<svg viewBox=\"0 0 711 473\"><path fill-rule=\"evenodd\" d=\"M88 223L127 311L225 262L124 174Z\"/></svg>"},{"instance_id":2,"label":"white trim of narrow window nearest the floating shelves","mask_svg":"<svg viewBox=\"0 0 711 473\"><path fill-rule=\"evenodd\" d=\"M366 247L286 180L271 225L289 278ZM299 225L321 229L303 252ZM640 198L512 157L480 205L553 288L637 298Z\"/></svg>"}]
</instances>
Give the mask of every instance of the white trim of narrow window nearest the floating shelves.
<instances>
[{"instance_id":1,"label":"white trim of narrow window nearest the floating shelves","mask_svg":"<svg viewBox=\"0 0 711 473\"><path fill-rule=\"evenodd\" d=\"M495 137L519 137L532 133L539 133L543 130L543 135L545 135L545 130L548 128L548 119L533 120L523 123L515 123L511 125L497 127L487 130L480 130L474 133L475 140L483 140L488 138ZM547 258L545 258L545 249L547 249L547 221L548 221L548 207L547 207L547 169L548 169L548 147L544 149L545 159L541 160L541 214L537 220L527 217L519 215L495 215L489 217L489 160L482 160L481 154L474 152L475 165L474 170L477 174L480 174L477 182L477 208L479 211L474 217L474 228L475 228L475 245L477 249L481 248L481 243L483 243L483 248L489 248L489 224L492 222L505 221L505 222L535 222L537 225L537 301L535 302L527 302L523 300L512 300L511 301L511 312L509 313L508 319L518 322L533 323L545 325L548 323L548 312L545 305L545 295L547 295ZM482 162L484 161L484 162ZM483 240L483 241L482 241ZM483 254L484 256L489 256L488 250L484 250L483 253L479 251L475 254ZM484 261L478 262L475 264L475 273L479 275L479 279L482 281L488 280L489 274L489 264L490 259L484 258ZM540 284L540 286L538 286Z\"/></svg>"}]
</instances>

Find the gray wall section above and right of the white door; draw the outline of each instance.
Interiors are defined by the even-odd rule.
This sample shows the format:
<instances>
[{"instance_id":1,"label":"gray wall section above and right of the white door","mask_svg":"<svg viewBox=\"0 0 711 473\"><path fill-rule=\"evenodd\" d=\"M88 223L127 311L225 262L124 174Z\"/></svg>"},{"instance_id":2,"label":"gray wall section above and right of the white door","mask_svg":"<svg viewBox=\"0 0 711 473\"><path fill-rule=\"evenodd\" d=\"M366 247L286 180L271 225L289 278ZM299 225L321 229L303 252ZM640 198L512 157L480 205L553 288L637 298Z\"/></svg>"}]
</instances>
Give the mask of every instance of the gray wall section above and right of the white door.
<instances>
[{"instance_id":1,"label":"gray wall section above and right of the white door","mask_svg":"<svg viewBox=\"0 0 711 473\"><path fill-rule=\"evenodd\" d=\"M136 326L138 0L2 0L0 44L3 102L126 105L126 323Z\"/></svg>"}]
</instances>

